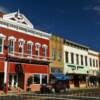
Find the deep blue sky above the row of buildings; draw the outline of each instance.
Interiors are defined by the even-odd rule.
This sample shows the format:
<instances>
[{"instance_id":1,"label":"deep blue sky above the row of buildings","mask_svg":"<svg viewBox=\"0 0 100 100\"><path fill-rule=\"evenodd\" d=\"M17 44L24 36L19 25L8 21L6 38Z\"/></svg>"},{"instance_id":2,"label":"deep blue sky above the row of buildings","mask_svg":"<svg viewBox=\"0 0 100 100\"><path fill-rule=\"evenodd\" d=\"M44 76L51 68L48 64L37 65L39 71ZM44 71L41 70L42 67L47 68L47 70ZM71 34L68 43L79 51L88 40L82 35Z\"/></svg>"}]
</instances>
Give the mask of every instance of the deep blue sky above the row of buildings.
<instances>
[{"instance_id":1,"label":"deep blue sky above the row of buildings","mask_svg":"<svg viewBox=\"0 0 100 100\"><path fill-rule=\"evenodd\" d=\"M0 0L0 11L18 8L35 28L100 51L100 0Z\"/></svg>"}]
</instances>

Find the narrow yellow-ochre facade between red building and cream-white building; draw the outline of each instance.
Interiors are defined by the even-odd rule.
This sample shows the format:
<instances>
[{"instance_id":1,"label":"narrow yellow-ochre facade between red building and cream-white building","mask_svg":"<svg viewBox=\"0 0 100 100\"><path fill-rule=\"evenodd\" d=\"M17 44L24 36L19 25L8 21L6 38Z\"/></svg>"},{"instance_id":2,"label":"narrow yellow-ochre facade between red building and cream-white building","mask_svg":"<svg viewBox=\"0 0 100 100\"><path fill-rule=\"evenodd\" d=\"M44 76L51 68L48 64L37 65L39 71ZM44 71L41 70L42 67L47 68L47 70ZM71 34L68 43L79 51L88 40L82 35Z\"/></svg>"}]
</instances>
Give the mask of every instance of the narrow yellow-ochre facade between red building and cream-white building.
<instances>
[{"instance_id":1,"label":"narrow yellow-ochre facade between red building and cream-white building","mask_svg":"<svg viewBox=\"0 0 100 100\"><path fill-rule=\"evenodd\" d=\"M63 38L52 35L50 37L50 57L53 62L50 63L50 73L63 73Z\"/></svg>"}]
</instances>

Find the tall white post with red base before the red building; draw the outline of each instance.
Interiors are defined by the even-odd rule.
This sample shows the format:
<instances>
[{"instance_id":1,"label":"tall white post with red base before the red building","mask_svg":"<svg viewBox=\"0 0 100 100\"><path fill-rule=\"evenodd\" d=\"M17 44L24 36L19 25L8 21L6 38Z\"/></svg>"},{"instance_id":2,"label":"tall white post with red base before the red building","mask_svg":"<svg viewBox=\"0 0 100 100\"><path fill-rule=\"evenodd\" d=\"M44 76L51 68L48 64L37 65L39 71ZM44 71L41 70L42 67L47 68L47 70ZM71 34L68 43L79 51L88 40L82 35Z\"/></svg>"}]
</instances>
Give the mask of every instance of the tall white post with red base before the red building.
<instances>
[{"instance_id":1,"label":"tall white post with red base before the red building","mask_svg":"<svg viewBox=\"0 0 100 100\"><path fill-rule=\"evenodd\" d=\"M5 49L5 64L4 64L4 90L6 95L8 94L8 46L4 46Z\"/></svg>"}]
</instances>

